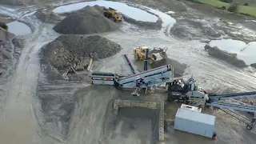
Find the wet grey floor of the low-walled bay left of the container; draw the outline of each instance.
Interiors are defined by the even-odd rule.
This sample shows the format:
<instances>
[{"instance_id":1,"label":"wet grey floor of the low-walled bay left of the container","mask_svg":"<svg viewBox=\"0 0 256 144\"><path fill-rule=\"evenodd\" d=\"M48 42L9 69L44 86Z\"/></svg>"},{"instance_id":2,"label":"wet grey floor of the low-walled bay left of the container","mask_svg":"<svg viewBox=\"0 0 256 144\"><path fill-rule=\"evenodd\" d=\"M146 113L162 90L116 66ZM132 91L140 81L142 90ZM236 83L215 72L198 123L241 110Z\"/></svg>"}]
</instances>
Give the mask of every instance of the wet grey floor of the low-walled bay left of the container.
<instances>
[{"instance_id":1,"label":"wet grey floor of the low-walled bay left of the container","mask_svg":"<svg viewBox=\"0 0 256 144\"><path fill-rule=\"evenodd\" d=\"M120 108L109 142L125 144L158 142L158 113L158 110L139 107Z\"/></svg>"}]
</instances>

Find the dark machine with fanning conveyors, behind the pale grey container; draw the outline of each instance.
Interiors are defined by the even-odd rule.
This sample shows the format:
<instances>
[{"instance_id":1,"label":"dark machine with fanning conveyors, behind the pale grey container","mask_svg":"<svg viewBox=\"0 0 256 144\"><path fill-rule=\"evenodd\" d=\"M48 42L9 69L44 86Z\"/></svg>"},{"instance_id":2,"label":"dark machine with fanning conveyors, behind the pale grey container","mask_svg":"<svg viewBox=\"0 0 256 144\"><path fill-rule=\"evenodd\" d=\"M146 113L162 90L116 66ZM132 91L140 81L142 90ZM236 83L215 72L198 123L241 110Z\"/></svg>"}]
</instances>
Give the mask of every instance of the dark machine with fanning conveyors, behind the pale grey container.
<instances>
[{"instance_id":1,"label":"dark machine with fanning conveyors, behind the pale grey container","mask_svg":"<svg viewBox=\"0 0 256 144\"><path fill-rule=\"evenodd\" d=\"M166 83L166 86L168 88L167 100L169 102L178 101L190 106L213 106L246 123L248 130L251 130L256 123L256 106L246 105L242 102L242 104L230 102L233 98L256 98L256 91L232 94L208 94L206 90L195 84L193 77L189 79L175 79L173 82ZM254 114L254 118L250 120L230 109L252 113Z\"/></svg>"}]
</instances>

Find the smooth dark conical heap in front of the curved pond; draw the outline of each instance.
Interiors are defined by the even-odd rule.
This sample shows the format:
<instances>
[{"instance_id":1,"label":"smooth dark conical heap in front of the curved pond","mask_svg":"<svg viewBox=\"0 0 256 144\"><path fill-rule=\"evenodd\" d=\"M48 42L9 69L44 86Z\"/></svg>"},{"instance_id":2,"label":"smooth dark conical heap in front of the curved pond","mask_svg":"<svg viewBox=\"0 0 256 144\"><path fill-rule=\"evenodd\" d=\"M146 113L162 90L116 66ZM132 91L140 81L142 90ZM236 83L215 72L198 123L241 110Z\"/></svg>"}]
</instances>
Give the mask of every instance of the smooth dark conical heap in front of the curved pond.
<instances>
[{"instance_id":1,"label":"smooth dark conical heap in front of the curved pond","mask_svg":"<svg viewBox=\"0 0 256 144\"><path fill-rule=\"evenodd\" d=\"M86 6L69 14L54 26L60 34L94 34L118 29L118 25L105 18L100 6Z\"/></svg>"}]
</instances>

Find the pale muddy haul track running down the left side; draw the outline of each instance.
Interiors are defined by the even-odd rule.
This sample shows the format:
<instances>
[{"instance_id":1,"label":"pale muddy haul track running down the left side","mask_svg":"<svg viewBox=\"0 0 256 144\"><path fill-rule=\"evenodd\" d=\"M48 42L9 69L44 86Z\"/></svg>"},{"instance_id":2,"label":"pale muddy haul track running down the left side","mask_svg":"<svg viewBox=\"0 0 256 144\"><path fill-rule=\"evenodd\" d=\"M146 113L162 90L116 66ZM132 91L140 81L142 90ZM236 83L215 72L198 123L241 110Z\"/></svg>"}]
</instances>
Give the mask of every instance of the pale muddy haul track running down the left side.
<instances>
[{"instance_id":1,"label":"pale muddy haul track running down the left side","mask_svg":"<svg viewBox=\"0 0 256 144\"><path fill-rule=\"evenodd\" d=\"M43 27L45 26L39 26L26 39L17 70L12 76L9 90L6 90L5 106L0 112L0 139L3 143L29 144L34 143L34 138L37 137L38 126L31 104L39 73L37 51L47 42L47 39L41 37L45 32ZM16 138L12 138L14 135Z\"/></svg>"}]
</instances>

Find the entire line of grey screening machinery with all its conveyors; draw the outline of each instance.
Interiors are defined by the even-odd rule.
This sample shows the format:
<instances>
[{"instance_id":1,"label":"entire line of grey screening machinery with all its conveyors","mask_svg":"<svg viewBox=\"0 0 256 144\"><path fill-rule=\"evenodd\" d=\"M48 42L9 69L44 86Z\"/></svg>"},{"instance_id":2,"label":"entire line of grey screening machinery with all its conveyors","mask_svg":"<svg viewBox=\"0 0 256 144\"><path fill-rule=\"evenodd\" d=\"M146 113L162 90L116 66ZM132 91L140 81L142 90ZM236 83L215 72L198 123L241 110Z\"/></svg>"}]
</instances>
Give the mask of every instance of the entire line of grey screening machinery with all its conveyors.
<instances>
[{"instance_id":1,"label":"entire line of grey screening machinery with all its conveyors","mask_svg":"<svg viewBox=\"0 0 256 144\"><path fill-rule=\"evenodd\" d=\"M122 55L127 66L131 71L129 76L121 76L112 73L100 73L92 72L90 78L92 79L93 85L109 85L114 86L120 90L134 90L133 96L139 96L140 90L145 92L151 87L161 86L165 84L166 90L168 91L168 101L178 101L186 103L190 106L213 106L220 110L233 109L245 112L256 113L256 106L238 105L234 103L228 103L225 100L230 98L252 98L256 97L255 92L236 93L236 94L207 94L206 91L195 85L194 78L174 78L174 69L171 65L160 66L152 70L147 70L147 59L149 50L145 51L145 63L144 71L136 73L134 66L130 62L126 54ZM256 123L256 119L245 118L240 114L235 113L232 110L227 114L238 118L238 120L246 123L246 128L251 130Z\"/></svg>"}]
</instances>

